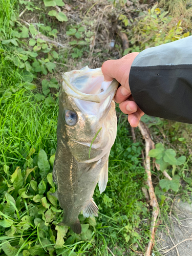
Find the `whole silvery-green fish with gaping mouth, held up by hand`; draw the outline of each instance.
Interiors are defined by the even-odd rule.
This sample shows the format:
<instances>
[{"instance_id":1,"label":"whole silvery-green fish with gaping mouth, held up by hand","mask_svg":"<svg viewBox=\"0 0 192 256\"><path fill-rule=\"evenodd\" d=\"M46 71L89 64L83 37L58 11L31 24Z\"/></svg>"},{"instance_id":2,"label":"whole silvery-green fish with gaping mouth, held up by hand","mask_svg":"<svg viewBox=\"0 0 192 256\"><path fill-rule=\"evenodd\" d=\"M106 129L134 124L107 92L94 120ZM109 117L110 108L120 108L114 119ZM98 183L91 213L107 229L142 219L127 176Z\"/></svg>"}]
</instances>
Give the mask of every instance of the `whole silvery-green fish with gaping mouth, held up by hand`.
<instances>
[{"instance_id":1,"label":"whole silvery-green fish with gaping mouth, held up by hand","mask_svg":"<svg viewBox=\"0 0 192 256\"><path fill-rule=\"evenodd\" d=\"M57 148L53 166L54 196L63 209L59 225L81 233L78 219L98 216L93 194L108 182L108 162L117 134L114 95L117 80L104 81L101 68L62 74L59 92Z\"/></svg>"}]
</instances>

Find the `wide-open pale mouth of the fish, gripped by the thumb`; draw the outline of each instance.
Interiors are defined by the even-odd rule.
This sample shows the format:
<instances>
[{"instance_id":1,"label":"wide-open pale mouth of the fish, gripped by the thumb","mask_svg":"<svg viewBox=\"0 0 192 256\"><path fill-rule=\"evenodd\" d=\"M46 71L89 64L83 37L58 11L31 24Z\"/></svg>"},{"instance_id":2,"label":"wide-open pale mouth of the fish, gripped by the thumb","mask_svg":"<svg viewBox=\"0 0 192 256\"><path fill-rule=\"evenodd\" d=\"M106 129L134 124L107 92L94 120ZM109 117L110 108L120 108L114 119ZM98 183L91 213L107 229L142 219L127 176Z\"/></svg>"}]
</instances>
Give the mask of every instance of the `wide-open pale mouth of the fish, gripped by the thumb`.
<instances>
[{"instance_id":1,"label":"wide-open pale mouth of the fish, gripped by the thumb","mask_svg":"<svg viewBox=\"0 0 192 256\"><path fill-rule=\"evenodd\" d=\"M90 69L88 66L62 73L62 78L62 88L68 95L96 103L101 103L109 96L113 99L119 84L116 79L104 81L101 68Z\"/></svg>"}]
</instances>

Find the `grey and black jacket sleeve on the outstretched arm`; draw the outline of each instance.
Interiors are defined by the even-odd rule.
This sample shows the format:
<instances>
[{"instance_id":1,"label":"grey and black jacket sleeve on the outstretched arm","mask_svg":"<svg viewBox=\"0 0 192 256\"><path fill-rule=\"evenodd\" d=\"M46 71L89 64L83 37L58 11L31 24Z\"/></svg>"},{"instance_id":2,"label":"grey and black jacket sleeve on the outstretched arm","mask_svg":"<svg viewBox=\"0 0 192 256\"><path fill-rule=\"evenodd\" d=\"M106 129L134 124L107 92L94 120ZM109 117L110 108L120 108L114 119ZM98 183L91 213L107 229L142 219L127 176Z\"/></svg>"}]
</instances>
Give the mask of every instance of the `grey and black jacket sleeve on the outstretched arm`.
<instances>
[{"instance_id":1,"label":"grey and black jacket sleeve on the outstretched arm","mask_svg":"<svg viewBox=\"0 0 192 256\"><path fill-rule=\"evenodd\" d=\"M129 83L147 115L192 123L192 36L139 53Z\"/></svg>"}]
</instances>

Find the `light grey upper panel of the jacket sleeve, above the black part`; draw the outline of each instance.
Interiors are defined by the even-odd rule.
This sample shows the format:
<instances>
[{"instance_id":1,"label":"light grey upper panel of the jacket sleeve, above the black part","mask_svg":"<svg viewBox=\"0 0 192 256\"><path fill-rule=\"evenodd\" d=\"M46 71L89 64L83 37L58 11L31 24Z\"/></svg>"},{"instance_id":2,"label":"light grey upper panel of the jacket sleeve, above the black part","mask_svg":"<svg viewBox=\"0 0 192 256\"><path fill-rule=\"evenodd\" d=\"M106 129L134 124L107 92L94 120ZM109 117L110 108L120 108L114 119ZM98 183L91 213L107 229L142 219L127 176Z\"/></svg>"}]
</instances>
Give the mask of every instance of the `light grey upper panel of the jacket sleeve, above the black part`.
<instances>
[{"instance_id":1,"label":"light grey upper panel of the jacket sleeve, above the black part","mask_svg":"<svg viewBox=\"0 0 192 256\"><path fill-rule=\"evenodd\" d=\"M192 64L192 36L140 52L132 67Z\"/></svg>"}]
</instances>

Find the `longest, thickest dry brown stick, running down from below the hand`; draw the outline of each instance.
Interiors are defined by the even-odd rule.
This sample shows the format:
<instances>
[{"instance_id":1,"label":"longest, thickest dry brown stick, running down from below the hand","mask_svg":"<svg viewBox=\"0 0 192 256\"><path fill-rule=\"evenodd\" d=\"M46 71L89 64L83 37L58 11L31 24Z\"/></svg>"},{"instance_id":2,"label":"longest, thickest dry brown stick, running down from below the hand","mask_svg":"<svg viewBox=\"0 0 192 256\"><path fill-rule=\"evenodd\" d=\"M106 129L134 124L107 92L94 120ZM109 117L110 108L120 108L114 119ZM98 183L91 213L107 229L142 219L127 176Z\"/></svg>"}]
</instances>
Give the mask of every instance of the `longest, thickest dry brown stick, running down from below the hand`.
<instances>
[{"instance_id":1,"label":"longest, thickest dry brown stick, running down from below the hand","mask_svg":"<svg viewBox=\"0 0 192 256\"><path fill-rule=\"evenodd\" d=\"M148 243L148 246L145 252L145 256L150 256L154 246L154 241L155 241L156 220L159 215L159 205L158 205L158 202L154 193L154 187L152 184L150 156L148 156L148 152L152 148L154 148L154 142L151 139L150 133L143 122L140 121L138 127L142 136L145 139L145 172L147 174L147 185L148 185L148 193L150 194L150 205L153 208L152 222L151 222L151 239L150 239L150 242Z\"/></svg>"}]
</instances>

